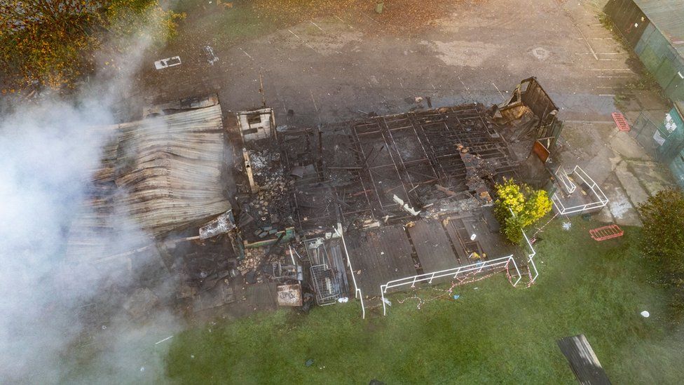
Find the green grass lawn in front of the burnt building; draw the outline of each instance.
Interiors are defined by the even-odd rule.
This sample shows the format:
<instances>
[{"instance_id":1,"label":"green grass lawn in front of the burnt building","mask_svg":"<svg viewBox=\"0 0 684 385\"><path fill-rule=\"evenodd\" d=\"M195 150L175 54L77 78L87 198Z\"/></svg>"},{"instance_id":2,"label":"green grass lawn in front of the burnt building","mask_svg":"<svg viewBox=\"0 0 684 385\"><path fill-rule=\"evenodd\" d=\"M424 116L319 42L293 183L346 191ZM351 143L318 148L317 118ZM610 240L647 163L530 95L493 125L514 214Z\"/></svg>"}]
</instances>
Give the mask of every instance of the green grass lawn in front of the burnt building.
<instances>
[{"instance_id":1,"label":"green grass lawn in front of the burnt building","mask_svg":"<svg viewBox=\"0 0 684 385\"><path fill-rule=\"evenodd\" d=\"M398 303L409 295L394 295L387 317L361 320L350 302L218 321L173 339L167 376L188 384L575 384L556 339L584 333L613 383L678 383L684 345L666 332L664 292L646 282L638 229L597 243L592 227L581 219L570 231L549 225L531 288L496 276L420 310L414 299ZM650 318L639 315L644 309Z\"/></svg>"}]
</instances>

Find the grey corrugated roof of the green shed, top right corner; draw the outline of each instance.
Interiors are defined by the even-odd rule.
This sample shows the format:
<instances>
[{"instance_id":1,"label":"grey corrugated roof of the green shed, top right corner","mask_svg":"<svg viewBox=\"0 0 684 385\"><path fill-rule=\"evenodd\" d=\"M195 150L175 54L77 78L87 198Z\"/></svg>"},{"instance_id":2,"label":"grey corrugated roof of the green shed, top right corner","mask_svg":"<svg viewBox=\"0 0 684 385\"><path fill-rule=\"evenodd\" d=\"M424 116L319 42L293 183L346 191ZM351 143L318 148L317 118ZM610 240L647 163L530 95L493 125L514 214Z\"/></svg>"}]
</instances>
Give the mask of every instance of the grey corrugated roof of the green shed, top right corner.
<instances>
[{"instance_id":1,"label":"grey corrugated roof of the green shed, top right corner","mask_svg":"<svg viewBox=\"0 0 684 385\"><path fill-rule=\"evenodd\" d=\"M684 55L684 1L634 0L680 55Z\"/></svg>"}]
</instances>

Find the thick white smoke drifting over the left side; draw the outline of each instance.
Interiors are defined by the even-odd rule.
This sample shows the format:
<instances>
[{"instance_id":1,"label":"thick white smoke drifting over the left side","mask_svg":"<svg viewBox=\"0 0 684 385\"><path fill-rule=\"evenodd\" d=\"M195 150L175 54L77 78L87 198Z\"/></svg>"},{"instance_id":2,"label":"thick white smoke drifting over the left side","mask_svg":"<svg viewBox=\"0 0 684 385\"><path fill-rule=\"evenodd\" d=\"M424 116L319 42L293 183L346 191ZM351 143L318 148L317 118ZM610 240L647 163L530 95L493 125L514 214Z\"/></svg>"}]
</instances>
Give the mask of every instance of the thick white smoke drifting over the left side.
<instances>
[{"instance_id":1,"label":"thick white smoke drifting over the left side","mask_svg":"<svg viewBox=\"0 0 684 385\"><path fill-rule=\"evenodd\" d=\"M53 97L38 105L15 104L0 116L2 384L140 382L163 375L159 349L168 345L154 342L179 323L163 311L152 311L144 322L131 320L122 305L128 293L116 288L130 287L139 278L135 269L64 261L72 220L88 198L102 146L111 140L93 127L118 123L109 106L127 92L150 40L134 43L130 55L118 58L128 67L116 78L91 81L70 102ZM115 241L116 249L149 238L128 218L115 219L116 238L98 236ZM104 251L80 257L97 259ZM150 289L163 300L172 285L165 281ZM84 320L84 314L97 319ZM89 336L96 336L93 342Z\"/></svg>"}]
</instances>

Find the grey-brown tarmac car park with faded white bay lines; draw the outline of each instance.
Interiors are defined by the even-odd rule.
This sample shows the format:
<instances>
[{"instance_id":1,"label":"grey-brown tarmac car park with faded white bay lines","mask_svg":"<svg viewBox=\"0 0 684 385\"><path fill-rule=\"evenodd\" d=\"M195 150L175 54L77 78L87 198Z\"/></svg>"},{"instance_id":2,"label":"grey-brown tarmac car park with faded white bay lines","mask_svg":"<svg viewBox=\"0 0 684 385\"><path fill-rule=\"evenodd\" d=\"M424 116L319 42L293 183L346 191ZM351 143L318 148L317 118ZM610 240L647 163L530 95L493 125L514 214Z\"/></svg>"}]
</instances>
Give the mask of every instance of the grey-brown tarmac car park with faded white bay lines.
<instances>
[{"instance_id":1,"label":"grey-brown tarmac car park with faded white bay lines","mask_svg":"<svg viewBox=\"0 0 684 385\"><path fill-rule=\"evenodd\" d=\"M278 125L311 127L427 107L416 97L432 107L498 104L535 76L566 122L564 166L580 164L611 200L610 212L598 218L640 224L636 205L673 182L652 160L649 133L637 141L610 117L618 110L615 96L640 75L598 19L605 2L511 0L502 13L499 1L462 1L406 36L385 33L381 15L350 11L238 44L217 38L216 13L231 8L200 13L149 60L180 55L184 64L146 70L137 100L217 93L226 116L265 104L275 109ZM204 46L217 62L207 62ZM648 91L620 107L628 121L642 112L659 121L667 109Z\"/></svg>"}]
</instances>

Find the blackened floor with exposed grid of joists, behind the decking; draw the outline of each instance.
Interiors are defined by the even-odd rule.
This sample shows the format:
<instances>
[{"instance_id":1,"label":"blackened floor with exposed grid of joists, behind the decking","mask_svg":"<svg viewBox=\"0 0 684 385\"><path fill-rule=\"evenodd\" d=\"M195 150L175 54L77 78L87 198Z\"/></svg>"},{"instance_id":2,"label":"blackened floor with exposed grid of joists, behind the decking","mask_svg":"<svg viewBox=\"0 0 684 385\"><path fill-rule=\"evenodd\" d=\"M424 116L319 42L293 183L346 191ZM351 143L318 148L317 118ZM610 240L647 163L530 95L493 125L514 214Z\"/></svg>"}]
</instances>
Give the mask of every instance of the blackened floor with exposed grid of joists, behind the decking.
<instances>
[{"instance_id":1,"label":"blackened floor with exposed grid of joists, behind the decking","mask_svg":"<svg viewBox=\"0 0 684 385\"><path fill-rule=\"evenodd\" d=\"M405 223L411 216L395 196L419 210L480 194L519 165L498 129L483 105L463 104L280 130L281 158L297 175L294 222L301 229L358 219Z\"/></svg>"}]
</instances>

